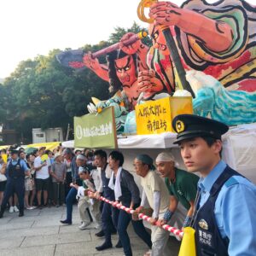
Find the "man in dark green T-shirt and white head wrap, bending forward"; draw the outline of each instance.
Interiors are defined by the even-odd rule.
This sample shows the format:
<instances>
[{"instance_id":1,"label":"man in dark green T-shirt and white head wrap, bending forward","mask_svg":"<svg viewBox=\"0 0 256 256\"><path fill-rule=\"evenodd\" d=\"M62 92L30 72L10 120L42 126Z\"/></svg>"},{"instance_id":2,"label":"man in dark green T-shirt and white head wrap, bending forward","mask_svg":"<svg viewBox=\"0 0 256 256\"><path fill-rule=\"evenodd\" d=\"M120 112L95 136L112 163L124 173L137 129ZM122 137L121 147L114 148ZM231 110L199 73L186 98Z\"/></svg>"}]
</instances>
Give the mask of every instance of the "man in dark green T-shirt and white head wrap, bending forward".
<instances>
[{"instance_id":1,"label":"man in dark green T-shirt and white head wrap, bending forward","mask_svg":"<svg viewBox=\"0 0 256 256\"><path fill-rule=\"evenodd\" d=\"M162 152L158 154L155 164L157 171L160 172L160 176L165 178L166 187L171 195L169 211L166 212L159 224L167 224L172 218L173 213L177 210L178 202L181 202L188 211L183 227L188 226L194 212L199 177L193 173L178 169L174 156L170 153Z\"/></svg>"}]
</instances>

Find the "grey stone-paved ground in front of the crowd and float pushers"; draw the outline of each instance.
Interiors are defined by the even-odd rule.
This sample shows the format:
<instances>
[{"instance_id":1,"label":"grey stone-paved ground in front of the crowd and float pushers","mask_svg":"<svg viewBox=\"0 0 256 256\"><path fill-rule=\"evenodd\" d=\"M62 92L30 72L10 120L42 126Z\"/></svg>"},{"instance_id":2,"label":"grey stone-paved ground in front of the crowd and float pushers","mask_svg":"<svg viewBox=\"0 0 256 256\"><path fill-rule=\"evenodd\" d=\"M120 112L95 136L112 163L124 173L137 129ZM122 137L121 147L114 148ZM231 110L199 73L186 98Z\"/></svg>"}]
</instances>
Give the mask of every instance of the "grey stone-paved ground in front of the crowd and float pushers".
<instances>
[{"instance_id":1,"label":"grey stone-paved ground in front of the crowd and float pushers","mask_svg":"<svg viewBox=\"0 0 256 256\"><path fill-rule=\"evenodd\" d=\"M79 212L73 207L73 225L61 225L60 219L66 216L65 207L50 207L43 210L26 211L25 216L18 213L5 212L0 219L0 255L124 255L122 249L108 249L101 253L95 247L102 244L97 238L97 230L91 225L89 230L79 230ZM143 255L148 248L144 245L129 226L133 255ZM118 236L113 236L113 245ZM176 256L179 243L170 238L169 246Z\"/></svg>"}]
</instances>

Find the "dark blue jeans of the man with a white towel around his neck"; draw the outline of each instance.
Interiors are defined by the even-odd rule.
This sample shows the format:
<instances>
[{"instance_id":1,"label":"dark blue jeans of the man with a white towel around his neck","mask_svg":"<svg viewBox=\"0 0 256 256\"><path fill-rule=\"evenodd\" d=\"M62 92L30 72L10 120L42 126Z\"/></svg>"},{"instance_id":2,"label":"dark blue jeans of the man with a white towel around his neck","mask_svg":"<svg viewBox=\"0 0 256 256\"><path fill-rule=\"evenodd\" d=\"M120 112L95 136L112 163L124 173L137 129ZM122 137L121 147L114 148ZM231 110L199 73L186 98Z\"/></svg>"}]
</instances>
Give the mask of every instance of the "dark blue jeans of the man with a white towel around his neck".
<instances>
[{"instance_id":1,"label":"dark blue jeans of the man with a white towel around his neck","mask_svg":"<svg viewBox=\"0 0 256 256\"><path fill-rule=\"evenodd\" d=\"M130 207L130 205L123 205L125 207ZM124 248L125 256L132 255L130 238L127 233L127 227L130 224L130 221L137 236L139 236L148 245L149 248L152 247L151 236L148 234L147 230L145 230L143 220L133 221L131 220L131 214L123 210L120 210L119 215L115 215L115 217L116 219L114 220L114 224L117 224L119 240L121 241Z\"/></svg>"}]
</instances>

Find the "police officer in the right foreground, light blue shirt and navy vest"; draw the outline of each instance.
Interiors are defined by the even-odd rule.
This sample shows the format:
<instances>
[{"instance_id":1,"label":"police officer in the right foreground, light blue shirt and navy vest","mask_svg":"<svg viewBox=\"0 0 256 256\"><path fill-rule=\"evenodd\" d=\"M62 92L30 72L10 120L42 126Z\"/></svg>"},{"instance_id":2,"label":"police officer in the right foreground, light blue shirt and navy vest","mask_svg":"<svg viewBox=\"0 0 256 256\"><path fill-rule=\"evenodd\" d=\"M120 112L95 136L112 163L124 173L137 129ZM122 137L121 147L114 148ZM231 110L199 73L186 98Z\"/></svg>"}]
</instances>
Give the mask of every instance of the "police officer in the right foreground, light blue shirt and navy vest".
<instances>
[{"instance_id":1,"label":"police officer in the right foreground, light blue shirt and navy vest","mask_svg":"<svg viewBox=\"0 0 256 256\"><path fill-rule=\"evenodd\" d=\"M197 255L255 255L256 186L221 160L227 125L193 114L172 120L189 172L200 172L191 226Z\"/></svg>"}]
</instances>

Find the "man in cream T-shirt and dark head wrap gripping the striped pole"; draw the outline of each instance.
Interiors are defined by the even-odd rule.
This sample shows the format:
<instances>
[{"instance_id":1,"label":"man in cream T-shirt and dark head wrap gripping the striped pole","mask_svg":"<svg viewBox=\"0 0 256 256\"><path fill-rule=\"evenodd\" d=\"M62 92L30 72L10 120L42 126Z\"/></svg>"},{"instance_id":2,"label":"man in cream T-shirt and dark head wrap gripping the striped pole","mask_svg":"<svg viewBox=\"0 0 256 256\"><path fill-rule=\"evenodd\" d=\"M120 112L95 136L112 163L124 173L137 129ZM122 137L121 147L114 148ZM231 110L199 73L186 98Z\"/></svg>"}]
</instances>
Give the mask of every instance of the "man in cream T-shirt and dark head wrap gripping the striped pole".
<instances>
[{"instance_id":1,"label":"man in cream T-shirt and dark head wrap gripping the striped pole","mask_svg":"<svg viewBox=\"0 0 256 256\"><path fill-rule=\"evenodd\" d=\"M170 195L166 184L162 178L154 172L153 159L148 154L139 154L133 164L137 175L141 178L143 187L142 202L140 207L136 209L137 213L143 211L143 207L148 201L149 206L154 210L150 219L152 256L167 256L171 252L167 247L167 241L170 233L158 227L158 219L162 219L165 212L169 210Z\"/></svg>"}]
</instances>

